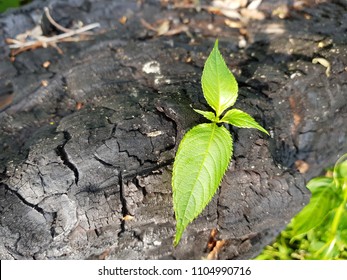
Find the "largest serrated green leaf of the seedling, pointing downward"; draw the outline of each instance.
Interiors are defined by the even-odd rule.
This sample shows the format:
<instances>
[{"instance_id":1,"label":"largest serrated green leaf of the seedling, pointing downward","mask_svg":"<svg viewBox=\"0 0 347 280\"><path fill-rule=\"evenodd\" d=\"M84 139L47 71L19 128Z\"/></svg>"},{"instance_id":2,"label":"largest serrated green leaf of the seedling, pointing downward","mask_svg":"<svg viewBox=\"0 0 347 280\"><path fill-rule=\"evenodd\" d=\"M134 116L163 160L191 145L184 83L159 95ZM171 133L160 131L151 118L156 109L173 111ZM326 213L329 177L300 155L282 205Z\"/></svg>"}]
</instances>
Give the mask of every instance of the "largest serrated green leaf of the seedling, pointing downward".
<instances>
[{"instance_id":1,"label":"largest serrated green leaf of the seedling, pointing downward","mask_svg":"<svg viewBox=\"0 0 347 280\"><path fill-rule=\"evenodd\" d=\"M173 175L173 203L176 216L174 245L187 225L210 202L232 155L229 131L215 123L193 127L183 137L176 154Z\"/></svg>"}]
</instances>

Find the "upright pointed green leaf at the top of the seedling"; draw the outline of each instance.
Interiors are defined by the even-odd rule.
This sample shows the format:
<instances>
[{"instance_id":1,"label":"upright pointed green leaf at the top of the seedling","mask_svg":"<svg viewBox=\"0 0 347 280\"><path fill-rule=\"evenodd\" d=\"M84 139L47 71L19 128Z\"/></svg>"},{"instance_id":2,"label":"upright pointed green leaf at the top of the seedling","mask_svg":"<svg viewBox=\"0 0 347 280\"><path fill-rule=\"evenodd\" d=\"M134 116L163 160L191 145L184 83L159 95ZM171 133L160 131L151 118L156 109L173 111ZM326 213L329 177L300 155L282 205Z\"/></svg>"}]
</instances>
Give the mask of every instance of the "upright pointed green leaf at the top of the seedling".
<instances>
[{"instance_id":1,"label":"upright pointed green leaf at the top of the seedling","mask_svg":"<svg viewBox=\"0 0 347 280\"><path fill-rule=\"evenodd\" d=\"M216 111L217 117L234 105L238 85L218 50L218 40L205 62L201 84L205 99Z\"/></svg>"}]
</instances>

